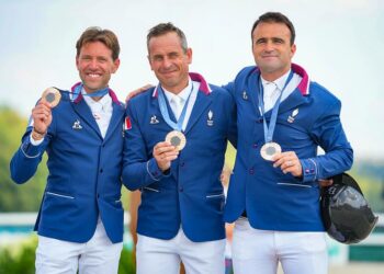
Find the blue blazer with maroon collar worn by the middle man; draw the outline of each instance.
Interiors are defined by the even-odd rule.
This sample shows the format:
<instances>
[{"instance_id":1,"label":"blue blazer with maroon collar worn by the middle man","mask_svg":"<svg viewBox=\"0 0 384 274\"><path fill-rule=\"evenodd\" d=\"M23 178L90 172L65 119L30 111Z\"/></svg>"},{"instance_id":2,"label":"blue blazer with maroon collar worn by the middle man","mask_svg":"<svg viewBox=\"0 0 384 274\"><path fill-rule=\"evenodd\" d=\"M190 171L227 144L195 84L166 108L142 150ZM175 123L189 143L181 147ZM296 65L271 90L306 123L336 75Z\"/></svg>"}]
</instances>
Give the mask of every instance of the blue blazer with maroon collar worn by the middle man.
<instances>
[{"instance_id":1,"label":"blue blazer with maroon collar worn by the middle man","mask_svg":"<svg viewBox=\"0 0 384 274\"><path fill-rule=\"evenodd\" d=\"M190 77L201 83L200 90L184 132L187 145L168 175L153 158L155 145L173 130L161 116L157 90L153 88L129 101L123 182L132 191L142 191L138 233L168 240L181 226L190 240L202 242L225 238L219 176L227 139L236 140L235 107L227 91L208 87L196 73ZM174 121L169 105L168 110Z\"/></svg>"}]
</instances>

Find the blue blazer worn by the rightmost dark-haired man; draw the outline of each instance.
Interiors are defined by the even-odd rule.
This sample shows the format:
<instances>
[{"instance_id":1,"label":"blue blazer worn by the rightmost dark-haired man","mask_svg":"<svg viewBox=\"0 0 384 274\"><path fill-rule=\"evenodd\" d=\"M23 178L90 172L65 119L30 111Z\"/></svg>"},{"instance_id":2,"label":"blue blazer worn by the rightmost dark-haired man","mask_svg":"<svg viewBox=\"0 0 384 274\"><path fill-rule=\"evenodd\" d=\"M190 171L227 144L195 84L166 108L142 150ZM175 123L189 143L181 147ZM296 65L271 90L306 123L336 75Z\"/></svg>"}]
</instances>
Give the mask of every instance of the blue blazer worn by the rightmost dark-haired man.
<instances>
[{"instance_id":1,"label":"blue blazer worn by the rightmost dark-haired man","mask_svg":"<svg viewBox=\"0 0 384 274\"><path fill-rule=\"evenodd\" d=\"M228 84L236 100L238 146L230 179L225 220L235 221L244 210L257 229L281 231L324 230L319 210L319 179L341 173L352 165L353 152L340 122L340 101L305 70L292 65L302 77L296 90L280 105L273 141L282 151L295 151L303 178L284 174L260 156L264 144L259 111L260 73L242 69ZM270 122L271 111L266 113ZM326 152L317 156L317 148Z\"/></svg>"}]
</instances>

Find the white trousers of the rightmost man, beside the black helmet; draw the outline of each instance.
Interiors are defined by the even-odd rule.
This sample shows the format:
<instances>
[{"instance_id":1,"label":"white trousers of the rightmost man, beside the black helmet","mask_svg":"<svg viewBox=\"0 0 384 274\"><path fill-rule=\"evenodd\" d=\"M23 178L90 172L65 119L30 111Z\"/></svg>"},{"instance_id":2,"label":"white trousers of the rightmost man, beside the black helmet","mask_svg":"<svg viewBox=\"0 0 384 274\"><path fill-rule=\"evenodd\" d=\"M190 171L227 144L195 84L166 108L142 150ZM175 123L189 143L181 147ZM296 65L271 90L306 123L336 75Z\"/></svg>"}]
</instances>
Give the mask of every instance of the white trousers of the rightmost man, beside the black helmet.
<instances>
[{"instance_id":1,"label":"white trousers of the rightmost man, beside the black helmet","mask_svg":"<svg viewBox=\"0 0 384 274\"><path fill-rule=\"evenodd\" d=\"M233 263L236 274L326 274L327 243L324 232L258 230L240 217L235 222Z\"/></svg>"}]
</instances>

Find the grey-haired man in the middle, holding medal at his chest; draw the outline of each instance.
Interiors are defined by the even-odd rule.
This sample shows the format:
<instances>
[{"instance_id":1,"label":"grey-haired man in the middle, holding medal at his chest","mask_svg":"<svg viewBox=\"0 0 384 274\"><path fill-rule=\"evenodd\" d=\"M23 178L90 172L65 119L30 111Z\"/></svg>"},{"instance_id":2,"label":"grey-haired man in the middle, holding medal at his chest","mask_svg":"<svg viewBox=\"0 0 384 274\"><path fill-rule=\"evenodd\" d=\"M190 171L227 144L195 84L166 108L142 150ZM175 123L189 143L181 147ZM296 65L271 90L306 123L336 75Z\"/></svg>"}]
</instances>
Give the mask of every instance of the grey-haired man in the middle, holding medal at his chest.
<instances>
[{"instance_id":1,"label":"grey-haired man in the middle, holding medal at his chest","mask_svg":"<svg viewBox=\"0 0 384 274\"><path fill-rule=\"evenodd\" d=\"M171 23L147 35L160 83L127 104L123 181L142 191L137 273L222 274L227 139L236 141L233 98L189 72L192 50Z\"/></svg>"}]
</instances>

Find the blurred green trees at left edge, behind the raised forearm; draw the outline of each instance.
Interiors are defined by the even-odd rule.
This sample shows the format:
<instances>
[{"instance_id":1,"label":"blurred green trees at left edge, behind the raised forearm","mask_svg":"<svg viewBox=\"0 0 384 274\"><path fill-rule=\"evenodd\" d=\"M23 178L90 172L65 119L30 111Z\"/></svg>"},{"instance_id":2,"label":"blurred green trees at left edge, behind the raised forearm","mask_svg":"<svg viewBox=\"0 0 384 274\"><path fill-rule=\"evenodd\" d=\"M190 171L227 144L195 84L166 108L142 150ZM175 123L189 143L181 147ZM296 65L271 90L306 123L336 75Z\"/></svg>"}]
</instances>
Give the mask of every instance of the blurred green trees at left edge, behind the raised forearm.
<instances>
[{"instance_id":1,"label":"blurred green trees at left edge, behind the raised forearm","mask_svg":"<svg viewBox=\"0 0 384 274\"><path fill-rule=\"evenodd\" d=\"M39 207L47 176L46 159L43 159L36 174L23 185L12 182L9 170L26 123L14 111L0 106L0 212L37 212Z\"/></svg>"}]
</instances>

